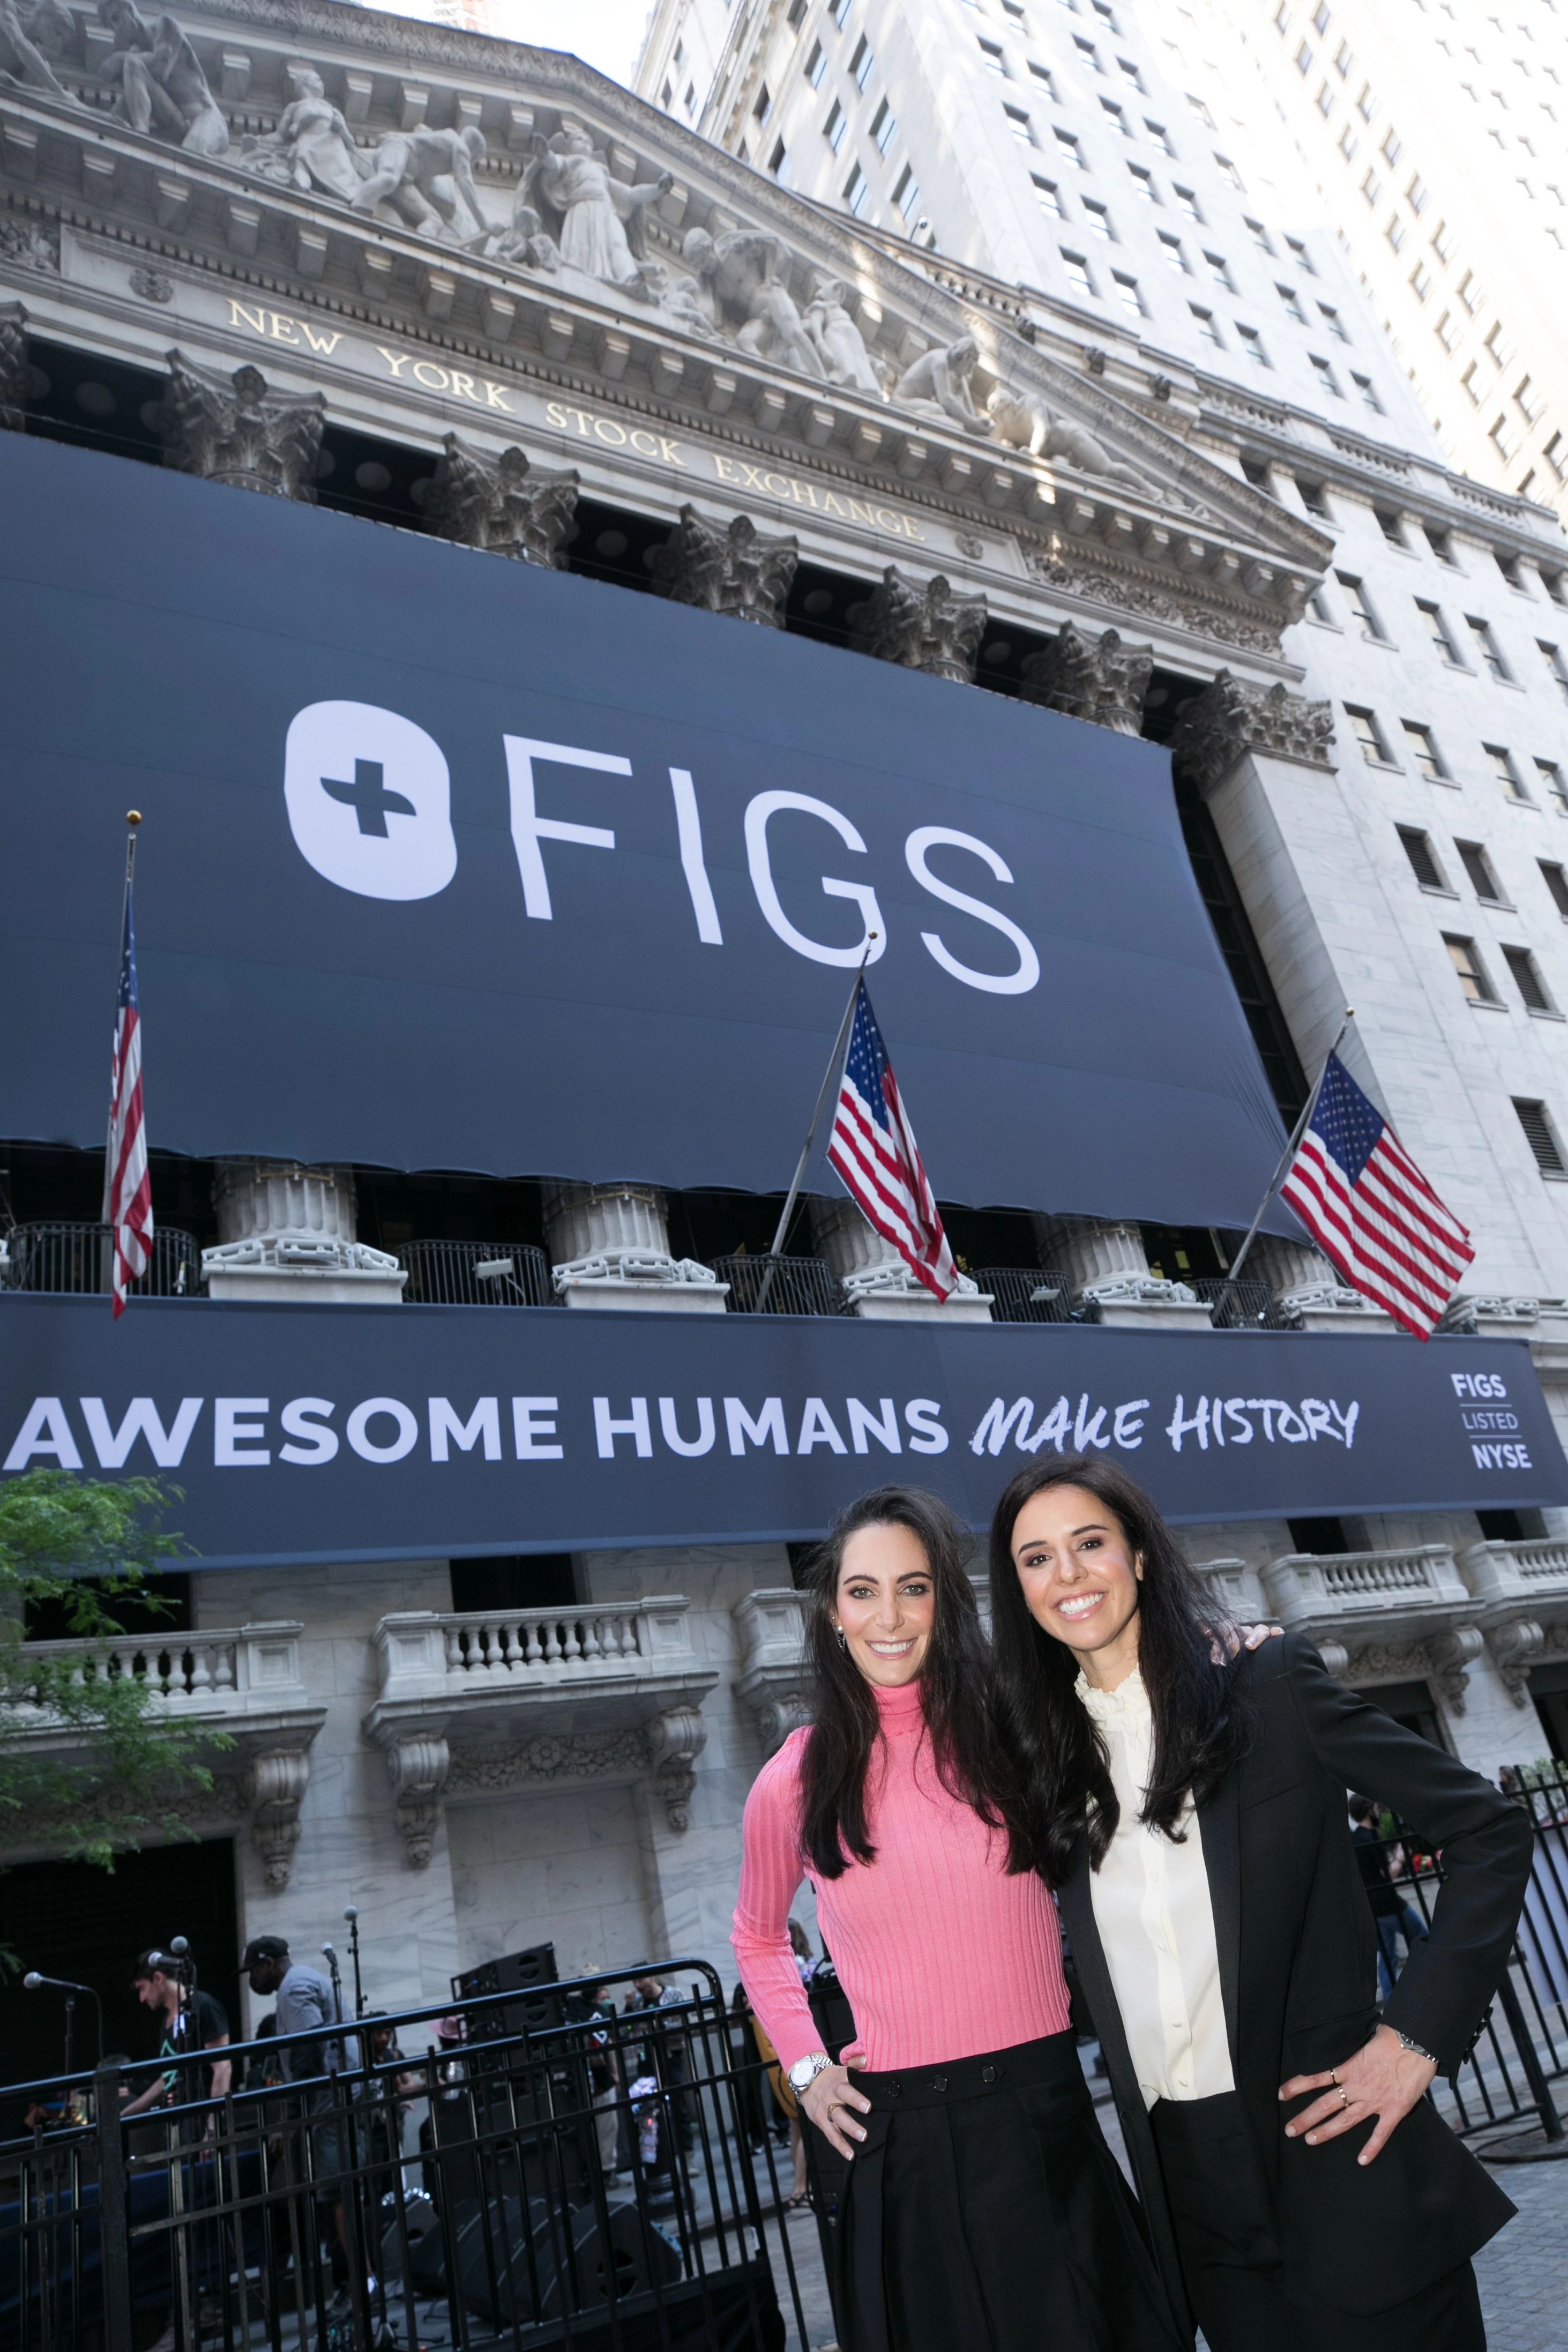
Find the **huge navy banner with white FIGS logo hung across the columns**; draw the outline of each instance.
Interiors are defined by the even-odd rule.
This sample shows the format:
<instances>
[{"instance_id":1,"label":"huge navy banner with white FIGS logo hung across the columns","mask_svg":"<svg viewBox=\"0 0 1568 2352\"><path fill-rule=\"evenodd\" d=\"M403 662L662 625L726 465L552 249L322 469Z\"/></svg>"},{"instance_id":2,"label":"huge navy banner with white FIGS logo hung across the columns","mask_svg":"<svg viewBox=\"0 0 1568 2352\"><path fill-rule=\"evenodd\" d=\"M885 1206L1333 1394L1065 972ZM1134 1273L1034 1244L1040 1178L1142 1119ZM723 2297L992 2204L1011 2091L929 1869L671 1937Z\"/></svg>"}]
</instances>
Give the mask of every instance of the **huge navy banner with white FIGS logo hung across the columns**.
<instances>
[{"instance_id":1,"label":"huge navy banner with white FIGS logo hung across the columns","mask_svg":"<svg viewBox=\"0 0 1568 2352\"><path fill-rule=\"evenodd\" d=\"M103 1141L136 807L165 1150L783 1190L870 938L940 1200L1251 1221L1154 746L19 433L0 515L9 1136Z\"/></svg>"}]
</instances>

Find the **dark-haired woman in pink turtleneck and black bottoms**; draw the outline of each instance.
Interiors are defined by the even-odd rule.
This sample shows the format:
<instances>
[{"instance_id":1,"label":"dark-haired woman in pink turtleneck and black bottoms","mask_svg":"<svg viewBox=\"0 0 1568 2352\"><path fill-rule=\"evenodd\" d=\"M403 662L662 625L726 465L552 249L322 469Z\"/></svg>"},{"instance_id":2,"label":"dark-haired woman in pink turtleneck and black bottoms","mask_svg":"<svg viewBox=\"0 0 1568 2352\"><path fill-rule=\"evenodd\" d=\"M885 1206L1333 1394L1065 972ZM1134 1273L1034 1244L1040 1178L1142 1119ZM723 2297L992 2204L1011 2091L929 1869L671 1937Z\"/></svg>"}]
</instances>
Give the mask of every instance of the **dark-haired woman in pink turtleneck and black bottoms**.
<instances>
[{"instance_id":1,"label":"dark-haired woman in pink turtleneck and black bottoms","mask_svg":"<svg viewBox=\"0 0 1568 2352\"><path fill-rule=\"evenodd\" d=\"M1056 1910L1013 1853L1013 1788L936 1496L886 1486L813 1573L816 1719L745 1806L733 1945L802 2107L853 2157L844 2352L1173 2352L1182 2336L1067 2020ZM856 2016L820 2046L790 1950L816 1891Z\"/></svg>"}]
</instances>

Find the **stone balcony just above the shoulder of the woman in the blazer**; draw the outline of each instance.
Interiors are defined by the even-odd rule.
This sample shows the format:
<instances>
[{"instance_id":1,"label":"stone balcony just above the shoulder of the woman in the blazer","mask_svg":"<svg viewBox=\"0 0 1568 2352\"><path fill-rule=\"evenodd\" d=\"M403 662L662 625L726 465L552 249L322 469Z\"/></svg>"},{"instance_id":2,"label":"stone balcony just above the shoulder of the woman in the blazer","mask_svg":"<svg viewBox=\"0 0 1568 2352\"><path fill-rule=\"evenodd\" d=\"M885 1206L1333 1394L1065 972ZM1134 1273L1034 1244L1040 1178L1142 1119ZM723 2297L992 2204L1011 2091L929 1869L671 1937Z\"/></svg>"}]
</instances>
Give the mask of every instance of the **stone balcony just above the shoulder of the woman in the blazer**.
<instances>
[{"instance_id":1,"label":"stone balcony just above the shoulder of the woman in the blazer","mask_svg":"<svg viewBox=\"0 0 1568 2352\"><path fill-rule=\"evenodd\" d=\"M1260 1569L1269 1611L1312 1635L1349 1684L1432 1682L1465 1712L1481 1611L1446 1543L1389 1552L1288 1552Z\"/></svg>"}]
</instances>

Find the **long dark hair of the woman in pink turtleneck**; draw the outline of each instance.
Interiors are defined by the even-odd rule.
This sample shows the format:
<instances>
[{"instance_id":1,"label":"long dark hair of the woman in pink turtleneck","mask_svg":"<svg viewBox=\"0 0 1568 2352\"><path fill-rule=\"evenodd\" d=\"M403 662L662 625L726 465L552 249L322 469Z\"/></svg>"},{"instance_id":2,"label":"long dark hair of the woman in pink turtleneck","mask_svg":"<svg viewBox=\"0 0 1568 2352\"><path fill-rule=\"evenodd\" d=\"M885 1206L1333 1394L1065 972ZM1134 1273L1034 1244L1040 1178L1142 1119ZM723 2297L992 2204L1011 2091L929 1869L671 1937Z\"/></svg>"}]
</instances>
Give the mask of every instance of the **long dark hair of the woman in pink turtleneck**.
<instances>
[{"instance_id":1,"label":"long dark hair of the woman in pink turtleneck","mask_svg":"<svg viewBox=\"0 0 1568 2352\"><path fill-rule=\"evenodd\" d=\"M926 1555L936 1595L919 1696L943 1788L971 1804L987 1828L1006 1828L1006 1783L997 1740L992 1672L973 1585L964 1573L969 1534L947 1505L919 1486L877 1486L849 1503L809 1564L806 1661L816 1682L811 1738L802 1764L802 1846L823 1879L877 1849L865 1823L865 1776L879 1719L872 1686L832 1630L844 1545L863 1526L907 1526ZM1027 1860L1020 1851L1020 1865Z\"/></svg>"}]
</instances>

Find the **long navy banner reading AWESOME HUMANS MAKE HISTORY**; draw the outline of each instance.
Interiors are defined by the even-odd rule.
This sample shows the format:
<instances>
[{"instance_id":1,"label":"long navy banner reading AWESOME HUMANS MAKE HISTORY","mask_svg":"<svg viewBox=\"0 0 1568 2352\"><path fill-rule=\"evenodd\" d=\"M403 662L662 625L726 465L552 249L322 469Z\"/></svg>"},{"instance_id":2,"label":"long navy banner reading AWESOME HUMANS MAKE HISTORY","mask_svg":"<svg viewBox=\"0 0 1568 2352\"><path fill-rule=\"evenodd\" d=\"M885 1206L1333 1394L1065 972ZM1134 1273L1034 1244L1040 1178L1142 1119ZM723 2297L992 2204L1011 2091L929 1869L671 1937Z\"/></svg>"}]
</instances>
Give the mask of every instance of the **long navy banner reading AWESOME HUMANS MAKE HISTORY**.
<instances>
[{"instance_id":1,"label":"long navy banner reading AWESOME HUMANS MAKE HISTORY","mask_svg":"<svg viewBox=\"0 0 1568 2352\"><path fill-rule=\"evenodd\" d=\"M1568 1503L1521 1341L0 1298L0 1458L162 1472L209 1566L976 1526L1041 1451L1173 1519Z\"/></svg>"}]
</instances>

